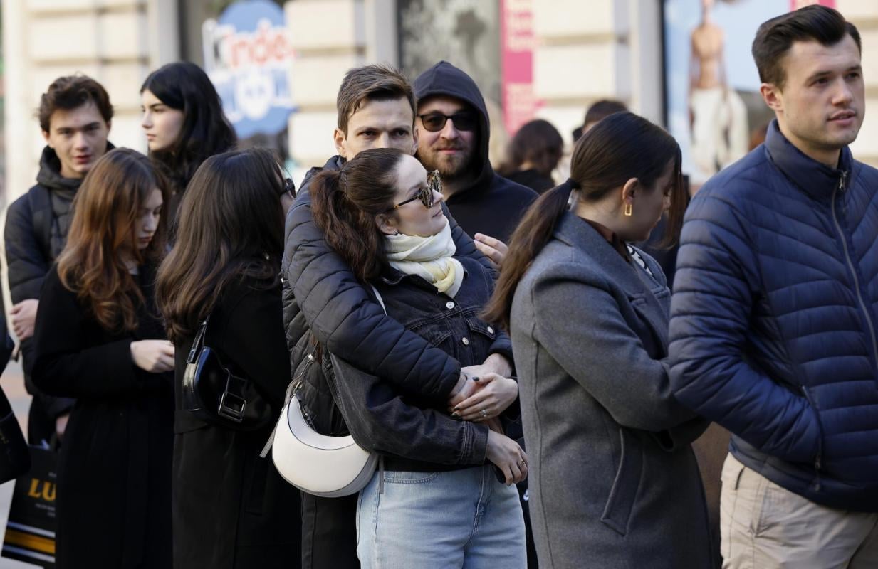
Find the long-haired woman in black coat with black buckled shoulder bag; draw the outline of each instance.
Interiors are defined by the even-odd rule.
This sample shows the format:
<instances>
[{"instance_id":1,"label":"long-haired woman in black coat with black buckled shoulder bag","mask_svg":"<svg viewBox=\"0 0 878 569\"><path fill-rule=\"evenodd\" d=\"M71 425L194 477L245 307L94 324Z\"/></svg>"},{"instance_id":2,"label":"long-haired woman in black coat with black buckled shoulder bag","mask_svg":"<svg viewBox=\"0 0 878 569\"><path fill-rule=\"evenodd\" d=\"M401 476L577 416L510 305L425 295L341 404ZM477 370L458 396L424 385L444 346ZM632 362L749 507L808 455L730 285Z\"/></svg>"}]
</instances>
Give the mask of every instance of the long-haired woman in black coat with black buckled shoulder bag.
<instances>
[{"instance_id":1,"label":"long-haired woman in black coat with black buckled shoulder bag","mask_svg":"<svg viewBox=\"0 0 878 569\"><path fill-rule=\"evenodd\" d=\"M159 305L176 347L175 567L299 563L299 491L259 456L290 381L277 278L284 191L280 168L265 151L205 160L186 190L176 245L159 271ZM268 403L262 427L199 416L184 397L186 360L206 317L203 345ZM204 403L216 409L216 402Z\"/></svg>"}]
</instances>

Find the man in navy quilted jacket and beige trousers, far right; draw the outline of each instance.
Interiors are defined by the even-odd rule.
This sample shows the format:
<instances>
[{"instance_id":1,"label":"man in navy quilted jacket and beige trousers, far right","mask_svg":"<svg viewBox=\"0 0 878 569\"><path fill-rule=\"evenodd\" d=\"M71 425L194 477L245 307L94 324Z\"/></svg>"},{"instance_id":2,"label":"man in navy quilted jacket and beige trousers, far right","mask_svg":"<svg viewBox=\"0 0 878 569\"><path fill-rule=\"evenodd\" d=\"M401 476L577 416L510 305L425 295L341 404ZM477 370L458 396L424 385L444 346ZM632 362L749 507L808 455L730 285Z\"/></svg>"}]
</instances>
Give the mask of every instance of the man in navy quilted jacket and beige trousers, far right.
<instances>
[{"instance_id":1,"label":"man in navy quilted jacket and beige trousers, far right","mask_svg":"<svg viewBox=\"0 0 878 569\"><path fill-rule=\"evenodd\" d=\"M878 170L853 160L860 34L822 6L753 41L765 144L694 196L670 324L678 400L732 434L726 567L878 566Z\"/></svg>"}]
</instances>

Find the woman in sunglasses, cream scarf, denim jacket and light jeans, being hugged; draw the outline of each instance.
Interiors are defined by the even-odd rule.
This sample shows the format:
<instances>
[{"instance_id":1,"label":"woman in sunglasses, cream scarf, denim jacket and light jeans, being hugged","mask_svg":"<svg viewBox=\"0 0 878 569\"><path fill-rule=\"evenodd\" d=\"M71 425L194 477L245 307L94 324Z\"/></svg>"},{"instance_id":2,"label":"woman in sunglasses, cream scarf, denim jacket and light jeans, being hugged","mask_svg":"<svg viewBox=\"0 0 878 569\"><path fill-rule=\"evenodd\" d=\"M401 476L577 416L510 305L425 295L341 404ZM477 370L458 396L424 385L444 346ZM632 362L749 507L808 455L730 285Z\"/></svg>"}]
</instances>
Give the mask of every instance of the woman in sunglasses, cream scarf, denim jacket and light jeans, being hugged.
<instances>
[{"instance_id":1,"label":"woman in sunglasses, cream scarf, denim jacket and light jeans, being hugged","mask_svg":"<svg viewBox=\"0 0 878 569\"><path fill-rule=\"evenodd\" d=\"M366 150L313 179L314 221L407 330L464 368L491 353L511 360L508 336L478 316L493 276L456 255L440 189L438 173L414 157ZM527 475L527 455L504 434L510 412L517 415L515 380L471 377L475 393L445 407L416 395L416 386L403 393L368 378L335 381L342 408L357 409L346 417L350 432L382 455L357 504L361 566L523 568L522 508L511 485Z\"/></svg>"}]
</instances>

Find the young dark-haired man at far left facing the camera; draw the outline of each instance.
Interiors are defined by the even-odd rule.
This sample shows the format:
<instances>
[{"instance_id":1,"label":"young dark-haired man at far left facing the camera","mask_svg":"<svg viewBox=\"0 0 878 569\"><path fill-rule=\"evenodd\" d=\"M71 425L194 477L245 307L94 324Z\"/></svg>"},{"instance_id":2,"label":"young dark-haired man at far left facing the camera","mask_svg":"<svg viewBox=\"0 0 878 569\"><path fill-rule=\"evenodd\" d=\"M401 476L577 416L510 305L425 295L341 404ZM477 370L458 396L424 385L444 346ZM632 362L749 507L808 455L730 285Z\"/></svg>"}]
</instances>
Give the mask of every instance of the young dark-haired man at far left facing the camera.
<instances>
[{"instance_id":1,"label":"young dark-haired man at far left facing the camera","mask_svg":"<svg viewBox=\"0 0 878 569\"><path fill-rule=\"evenodd\" d=\"M64 430L73 400L40 393L30 381L33 325L40 288L61 253L73 217L76 190L109 148L110 97L84 75L59 77L40 99L40 130L46 147L37 184L9 206L4 230L12 302L12 330L21 342L25 380L33 395L27 435L39 445Z\"/></svg>"}]
</instances>

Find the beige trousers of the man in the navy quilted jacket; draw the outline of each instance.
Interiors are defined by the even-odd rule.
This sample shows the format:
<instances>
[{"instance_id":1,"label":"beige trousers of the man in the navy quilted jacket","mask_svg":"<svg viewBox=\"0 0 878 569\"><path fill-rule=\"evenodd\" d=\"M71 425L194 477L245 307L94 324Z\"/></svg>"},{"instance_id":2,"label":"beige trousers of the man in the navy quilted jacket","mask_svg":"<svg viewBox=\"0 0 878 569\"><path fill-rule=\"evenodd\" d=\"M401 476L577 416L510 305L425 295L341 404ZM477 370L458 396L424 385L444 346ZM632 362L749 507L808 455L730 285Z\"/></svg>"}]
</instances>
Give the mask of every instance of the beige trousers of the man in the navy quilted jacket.
<instances>
[{"instance_id":1,"label":"beige trousers of the man in the navy quilted jacket","mask_svg":"<svg viewBox=\"0 0 878 569\"><path fill-rule=\"evenodd\" d=\"M720 499L723 569L878 568L878 514L820 506L729 454Z\"/></svg>"}]
</instances>

